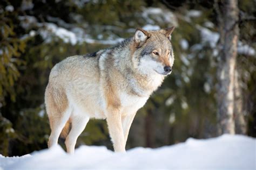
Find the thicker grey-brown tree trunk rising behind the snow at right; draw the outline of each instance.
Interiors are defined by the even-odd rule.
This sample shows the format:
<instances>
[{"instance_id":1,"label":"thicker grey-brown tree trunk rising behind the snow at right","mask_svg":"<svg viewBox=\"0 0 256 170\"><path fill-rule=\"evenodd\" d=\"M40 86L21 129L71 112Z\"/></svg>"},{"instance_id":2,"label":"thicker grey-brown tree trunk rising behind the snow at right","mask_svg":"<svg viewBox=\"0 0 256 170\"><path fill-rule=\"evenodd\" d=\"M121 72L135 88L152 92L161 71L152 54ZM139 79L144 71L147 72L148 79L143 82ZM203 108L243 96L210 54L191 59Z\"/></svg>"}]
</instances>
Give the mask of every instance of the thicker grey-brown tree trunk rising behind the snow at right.
<instances>
[{"instance_id":1,"label":"thicker grey-brown tree trunk rising behind the snow at right","mask_svg":"<svg viewBox=\"0 0 256 170\"><path fill-rule=\"evenodd\" d=\"M234 123L234 68L237 58L238 2L215 1L220 32L220 55L217 71L217 104L219 134L235 133Z\"/></svg>"}]
</instances>

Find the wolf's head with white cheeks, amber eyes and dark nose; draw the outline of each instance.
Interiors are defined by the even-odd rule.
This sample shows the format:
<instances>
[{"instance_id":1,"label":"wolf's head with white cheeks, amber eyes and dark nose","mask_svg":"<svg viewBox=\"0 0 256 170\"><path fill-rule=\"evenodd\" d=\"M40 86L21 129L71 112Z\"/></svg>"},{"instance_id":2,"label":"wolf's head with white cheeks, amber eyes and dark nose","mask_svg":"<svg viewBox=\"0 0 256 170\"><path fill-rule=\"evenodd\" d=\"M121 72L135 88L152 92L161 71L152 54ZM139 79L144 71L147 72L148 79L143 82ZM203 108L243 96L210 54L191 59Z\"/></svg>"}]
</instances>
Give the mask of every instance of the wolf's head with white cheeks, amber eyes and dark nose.
<instances>
[{"instance_id":1,"label":"wolf's head with white cheeks, amber eyes and dark nose","mask_svg":"<svg viewBox=\"0 0 256 170\"><path fill-rule=\"evenodd\" d=\"M169 75L172 72L174 55L171 44L171 33L174 27L159 31L137 29L133 43L134 66L144 74Z\"/></svg>"}]
</instances>

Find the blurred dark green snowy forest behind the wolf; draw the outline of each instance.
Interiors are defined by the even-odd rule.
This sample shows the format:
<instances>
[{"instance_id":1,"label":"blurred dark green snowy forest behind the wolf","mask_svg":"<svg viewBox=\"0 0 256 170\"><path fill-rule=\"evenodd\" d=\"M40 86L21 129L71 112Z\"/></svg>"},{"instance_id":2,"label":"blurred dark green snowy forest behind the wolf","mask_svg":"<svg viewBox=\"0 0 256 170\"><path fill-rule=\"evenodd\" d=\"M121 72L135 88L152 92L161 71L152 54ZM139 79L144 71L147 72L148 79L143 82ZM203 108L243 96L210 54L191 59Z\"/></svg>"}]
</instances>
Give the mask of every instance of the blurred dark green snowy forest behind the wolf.
<instances>
[{"instance_id":1,"label":"blurred dark green snowy forest behind the wolf","mask_svg":"<svg viewBox=\"0 0 256 170\"><path fill-rule=\"evenodd\" d=\"M0 154L23 155L47 148L50 126L44 91L57 62L116 45L132 37L137 27L176 26L172 34L176 60L173 73L138 111L127 149L225 132L256 137L256 1L238 1L238 18L230 20L239 36L228 119L233 123L231 131L219 128L220 98L225 91L219 90L223 75L218 70L226 62L221 58L221 45L230 42L221 40L225 38L221 33L225 18L221 15L226 15L226 9L221 9L223 1L0 2ZM105 121L87 124L77 146L83 144L112 149Z\"/></svg>"}]
</instances>

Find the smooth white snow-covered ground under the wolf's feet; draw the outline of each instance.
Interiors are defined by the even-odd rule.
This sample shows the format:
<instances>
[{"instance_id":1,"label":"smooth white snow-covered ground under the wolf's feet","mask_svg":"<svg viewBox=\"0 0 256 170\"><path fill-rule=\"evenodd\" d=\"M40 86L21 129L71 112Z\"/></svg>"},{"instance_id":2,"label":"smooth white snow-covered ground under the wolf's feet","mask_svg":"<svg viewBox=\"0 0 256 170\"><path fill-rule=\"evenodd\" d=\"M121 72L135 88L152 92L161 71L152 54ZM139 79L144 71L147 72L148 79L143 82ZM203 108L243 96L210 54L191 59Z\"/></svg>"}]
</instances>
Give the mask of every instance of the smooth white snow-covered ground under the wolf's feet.
<instances>
[{"instance_id":1,"label":"smooth white snow-covered ground under the wolf's feet","mask_svg":"<svg viewBox=\"0 0 256 170\"><path fill-rule=\"evenodd\" d=\"M104 146L80 146L69 155L60 146L23 157L0 155L0 169L256 169L256 139L223 135L188 139L155 149L114 153Z\"/></svg>"}]
</instances>

